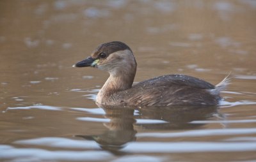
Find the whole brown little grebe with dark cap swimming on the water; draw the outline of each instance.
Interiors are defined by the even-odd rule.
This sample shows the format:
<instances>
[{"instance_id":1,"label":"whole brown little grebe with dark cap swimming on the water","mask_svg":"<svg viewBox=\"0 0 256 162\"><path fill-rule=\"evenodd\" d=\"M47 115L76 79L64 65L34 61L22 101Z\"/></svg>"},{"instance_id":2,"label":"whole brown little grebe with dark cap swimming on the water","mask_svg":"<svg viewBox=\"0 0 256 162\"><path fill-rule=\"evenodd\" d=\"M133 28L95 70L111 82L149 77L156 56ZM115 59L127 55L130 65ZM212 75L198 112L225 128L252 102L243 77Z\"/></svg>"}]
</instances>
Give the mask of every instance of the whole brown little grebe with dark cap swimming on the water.
<instances>
[{"instance_id":1,"label":"whole brown little grebe with dark cap swimming on the water","mask_svg":"<svg viewBox=\"0 0 256 162\"><path fill-rule=\"evenodd\" d=\"M163 75L132 86L136 60L131 48L120 41L99 45L90 57L73 67L88 66L110 74L97 94L96 102L100 105L218 105L220 91L229 81L226 77L214 86L187 75Z\"/></svg>"}]
</instances>

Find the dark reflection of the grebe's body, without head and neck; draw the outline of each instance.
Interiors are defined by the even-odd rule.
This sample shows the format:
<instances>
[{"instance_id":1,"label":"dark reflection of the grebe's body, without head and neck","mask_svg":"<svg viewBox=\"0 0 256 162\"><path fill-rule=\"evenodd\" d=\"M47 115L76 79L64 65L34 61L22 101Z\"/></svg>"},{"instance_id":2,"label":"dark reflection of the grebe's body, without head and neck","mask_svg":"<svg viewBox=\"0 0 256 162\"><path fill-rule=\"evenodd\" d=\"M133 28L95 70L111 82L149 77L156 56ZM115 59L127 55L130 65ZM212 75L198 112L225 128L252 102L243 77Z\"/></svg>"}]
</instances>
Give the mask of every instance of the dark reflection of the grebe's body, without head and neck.
<instances>
[{"instance_id":1,"label":"dark reflection of the grebe's body, without head and neck","mask_svg":"<svg viewBox=\"0 0 256 162\"><path fill-rule=\"evenodd\" d=\"M201 121L216 114L216 106L179 106L172 107L150 107L140 108L138 114L141 119L158 119L166 121L165 123L136 124L144 129L193 129L203 124L191 124L191 121Z\"/></svg>"}]
</instances>

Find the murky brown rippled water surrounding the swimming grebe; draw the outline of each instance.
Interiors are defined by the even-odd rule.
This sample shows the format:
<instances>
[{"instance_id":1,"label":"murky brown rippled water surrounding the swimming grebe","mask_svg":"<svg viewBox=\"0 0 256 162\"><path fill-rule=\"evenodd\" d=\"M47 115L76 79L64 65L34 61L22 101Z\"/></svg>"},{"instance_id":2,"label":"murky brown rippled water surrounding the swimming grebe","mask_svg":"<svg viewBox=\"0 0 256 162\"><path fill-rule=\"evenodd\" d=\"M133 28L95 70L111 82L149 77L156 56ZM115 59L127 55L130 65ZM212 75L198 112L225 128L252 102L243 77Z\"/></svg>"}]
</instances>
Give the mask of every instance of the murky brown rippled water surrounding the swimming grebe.
<instances>
[{"instance_id":1,"label":"murky brown rippled water surrounding the swimming grebe","mask_svg":"<svg viewBox=\"0 0 256 162\"><path fill-rule=\"evenodd\" d=\"M0 1L0 161L256 161L256 1ZM136 82L217 84L218 108L98 108L108 73L71 68L124 41Z\"/></svg>"}]
</instances>

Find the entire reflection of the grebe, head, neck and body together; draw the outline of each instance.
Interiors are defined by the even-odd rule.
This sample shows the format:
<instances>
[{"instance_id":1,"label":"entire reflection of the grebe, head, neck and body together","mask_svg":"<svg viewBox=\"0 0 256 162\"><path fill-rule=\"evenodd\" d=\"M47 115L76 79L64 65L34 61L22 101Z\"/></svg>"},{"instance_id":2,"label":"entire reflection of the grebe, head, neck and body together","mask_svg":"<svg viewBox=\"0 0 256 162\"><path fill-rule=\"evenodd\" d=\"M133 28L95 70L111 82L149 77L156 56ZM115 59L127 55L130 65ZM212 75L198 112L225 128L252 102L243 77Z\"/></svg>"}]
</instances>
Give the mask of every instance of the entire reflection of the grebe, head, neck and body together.
<instances>
[{"instance_id":1,"label":"entire reflection of the grebe, head, neck and body together","mask_svg":"<svg viewBox=\"0 0 256 162\"><path fill-rule=\"evenodd\" d=\"M99 135L76 135L85 140L94 140L104 150L114 153L136 140L136 128L142 129L193 129L204 123L192 121L207 120L218 112L218 107L172 106L172 107L111 107L99 105L109 119L104 122L108 130ZM147 120L146 120L147 119ZM157 121L157 122L156 122Z\"/></svg>"}]
</instances>

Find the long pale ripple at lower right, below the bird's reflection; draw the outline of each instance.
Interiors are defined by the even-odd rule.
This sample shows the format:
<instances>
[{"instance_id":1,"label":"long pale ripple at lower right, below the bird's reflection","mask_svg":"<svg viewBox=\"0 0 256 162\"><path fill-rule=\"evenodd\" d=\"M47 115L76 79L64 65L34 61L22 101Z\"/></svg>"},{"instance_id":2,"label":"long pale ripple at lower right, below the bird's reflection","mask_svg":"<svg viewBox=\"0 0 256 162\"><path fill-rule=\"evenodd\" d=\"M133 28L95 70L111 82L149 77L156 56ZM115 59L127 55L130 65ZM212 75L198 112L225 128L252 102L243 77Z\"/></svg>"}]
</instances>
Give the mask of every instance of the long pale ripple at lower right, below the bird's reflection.
<instances>
[{"instance_id":1,"label":"long pale ripple at lower right, below the bird's reflection","mask_svg":"<svg viewBox=\"0 0 256 162\"><path fill-rule=\"evenodd\" d=\"M122 151L136 153L244 152L256 151L256 142L131 142Z\"/></svg>"}]
</instances>

